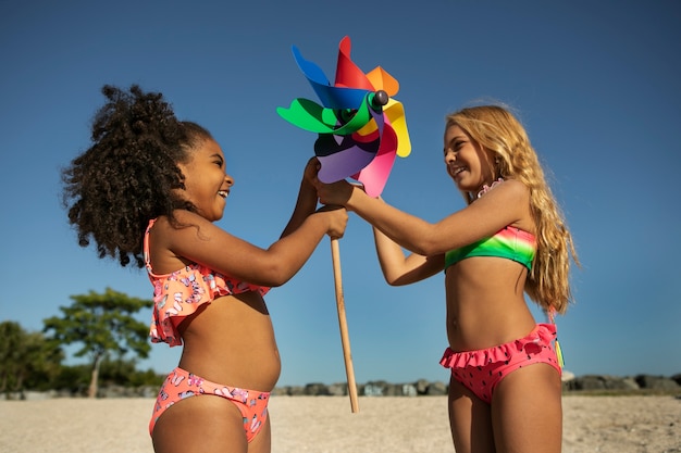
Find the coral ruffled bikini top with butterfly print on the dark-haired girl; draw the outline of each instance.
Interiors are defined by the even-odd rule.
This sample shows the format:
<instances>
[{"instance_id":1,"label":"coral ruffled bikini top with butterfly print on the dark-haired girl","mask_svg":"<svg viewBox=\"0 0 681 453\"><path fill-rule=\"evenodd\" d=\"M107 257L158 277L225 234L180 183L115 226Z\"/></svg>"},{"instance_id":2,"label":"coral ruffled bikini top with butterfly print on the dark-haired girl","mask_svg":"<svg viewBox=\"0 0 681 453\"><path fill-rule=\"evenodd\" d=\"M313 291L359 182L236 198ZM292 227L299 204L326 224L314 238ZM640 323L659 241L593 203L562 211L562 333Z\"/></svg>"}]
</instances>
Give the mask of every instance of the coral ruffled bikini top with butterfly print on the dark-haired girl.
<instances>
[{"instance_id":1,"label":"coral ruffled bikini top with butterfly print on the dark-haired girl","mask_svg":"<svg viewBox=\"0 0 681 453\"><path fill-rule=\"evenodd\" d=\"M149 231L156 218L149 221L144 240L144 256L153 285L153 311L149 337L152 342L164 342L171 347L182 344L177 326L199 306L211 303L215 298L257 291L264 295L270 288L247 284L222 275L207 266L193 263L170 274L157 275L149 261Z\"/></svg>"}]
</instances>

